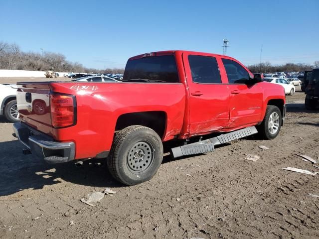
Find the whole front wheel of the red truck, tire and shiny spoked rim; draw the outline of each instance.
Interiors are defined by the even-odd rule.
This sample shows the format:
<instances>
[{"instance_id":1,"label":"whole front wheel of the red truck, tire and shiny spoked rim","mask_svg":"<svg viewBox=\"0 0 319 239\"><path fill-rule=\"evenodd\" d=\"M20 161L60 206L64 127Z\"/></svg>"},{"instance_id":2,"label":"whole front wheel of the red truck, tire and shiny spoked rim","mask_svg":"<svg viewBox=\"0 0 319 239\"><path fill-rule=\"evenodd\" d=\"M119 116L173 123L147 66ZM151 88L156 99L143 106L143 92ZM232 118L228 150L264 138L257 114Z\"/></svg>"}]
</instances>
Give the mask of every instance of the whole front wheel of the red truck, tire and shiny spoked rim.
<instances>
[{"instance_id":1,"label":"whole front wheel of the red truck, tire and shiny spoked rim","mask_svg":"<svg viewBox=\"0 0 319 239\"><path fill-rule=\"evenodd\" d=\"M262 123L257 126L258 133L264 139L276 138L279 134L282 122L282 115L277 106L267 106L265 118Z\"/></svg>"}]
</instances>

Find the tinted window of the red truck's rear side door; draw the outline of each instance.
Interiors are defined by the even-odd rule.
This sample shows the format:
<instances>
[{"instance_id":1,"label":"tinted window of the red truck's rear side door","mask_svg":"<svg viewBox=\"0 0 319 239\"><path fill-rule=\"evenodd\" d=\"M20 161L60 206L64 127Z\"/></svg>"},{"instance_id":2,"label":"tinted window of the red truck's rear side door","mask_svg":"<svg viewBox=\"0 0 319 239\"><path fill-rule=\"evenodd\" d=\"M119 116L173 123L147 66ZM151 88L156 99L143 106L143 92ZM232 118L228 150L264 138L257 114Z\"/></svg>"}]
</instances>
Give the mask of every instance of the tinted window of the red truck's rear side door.
<instances>
[{"instance_id":1,"label":"tinted window of the red truck's rear side door","mask_svg":"<svg viewBox=\"0 0 319 239\"><path fill-rule=\"evenodd\" d=\"M205 84L221 83L215 57L189 55L188 62L193 82Z\"/></svg>"}]
</instances>

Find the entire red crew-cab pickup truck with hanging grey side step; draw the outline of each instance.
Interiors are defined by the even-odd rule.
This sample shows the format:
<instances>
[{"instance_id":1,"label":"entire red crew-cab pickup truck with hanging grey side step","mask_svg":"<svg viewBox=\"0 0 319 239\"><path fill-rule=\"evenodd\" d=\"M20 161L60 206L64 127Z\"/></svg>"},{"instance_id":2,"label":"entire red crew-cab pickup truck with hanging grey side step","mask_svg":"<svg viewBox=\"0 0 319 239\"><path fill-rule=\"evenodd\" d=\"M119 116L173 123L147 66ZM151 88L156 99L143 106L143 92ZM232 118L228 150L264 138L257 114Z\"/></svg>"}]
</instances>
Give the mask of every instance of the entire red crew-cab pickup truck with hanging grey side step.
<instances>
[{"instance_id":1,"label":"entire red crew-cab pickup truck with hanging grey side step","mask_svg":"<svg viewBox=\"0 0 319 239\"><path fill-rule=\"evenodd\" d=\"M48 163L107 158L111 174L126 185L156 174L164 141L180 139L171 150L179 157L257 131L272 139L286 112L282 86L263 82L231 57L191 51L132 57L122 82L17 86L20 122L13 135L24 153ZM220 135L188 143L213 132Z\"/></svg>"}]
</instances>

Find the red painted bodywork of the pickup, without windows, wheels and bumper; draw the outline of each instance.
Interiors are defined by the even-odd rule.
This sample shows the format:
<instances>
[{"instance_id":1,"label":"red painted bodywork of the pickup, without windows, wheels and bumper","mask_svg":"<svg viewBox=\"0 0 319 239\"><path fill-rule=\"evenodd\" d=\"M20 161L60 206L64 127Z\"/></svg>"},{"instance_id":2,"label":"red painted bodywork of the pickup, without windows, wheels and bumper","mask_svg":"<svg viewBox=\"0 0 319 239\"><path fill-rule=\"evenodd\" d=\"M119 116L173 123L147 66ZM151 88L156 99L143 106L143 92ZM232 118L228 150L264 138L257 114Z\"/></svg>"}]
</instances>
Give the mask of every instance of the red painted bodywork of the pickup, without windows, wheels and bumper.
<instances>
[{"instance_id":1,"label":"red painted bodywork of the pickup, without windows, wheels and bumper","mask_svg":"<svg viewBox=\"0 0 319 239\"><path fill-rule=\"evenodd\" d=\"M267 82L250 86L228 84L221 58L235 60L233 58L189 51L156 53L156 55L166 54L175 55L180 83L46 82L20 84L18 85L17 101L21 121L52 136L57 141L74 141L75 158L81 159L94 157L102 151L110 150L117 119L123 114L164 112L166 127L162 140L167 141L175 135L184 139L214 131L232 131L255 125L264 118L269 100L281 99L285 103L285 94L279 85ZM189 54L216 57L222 84L193 83L187 61ZM144 57L144 54L130 59L140 57ZM246 67L244 68L249 72ZM231 93L235 90L239 94ZM38 98L46 102L47 112L45 114L36 115L27 112L27 104L23 103L26 92L32 93L32 99ZM75 125L59 129L51 126L49 92L70 94L76 97ZM196 92L201 94L198 95ZM196 94L192 95L192 93Z\"/></svg>"}]
</instances>

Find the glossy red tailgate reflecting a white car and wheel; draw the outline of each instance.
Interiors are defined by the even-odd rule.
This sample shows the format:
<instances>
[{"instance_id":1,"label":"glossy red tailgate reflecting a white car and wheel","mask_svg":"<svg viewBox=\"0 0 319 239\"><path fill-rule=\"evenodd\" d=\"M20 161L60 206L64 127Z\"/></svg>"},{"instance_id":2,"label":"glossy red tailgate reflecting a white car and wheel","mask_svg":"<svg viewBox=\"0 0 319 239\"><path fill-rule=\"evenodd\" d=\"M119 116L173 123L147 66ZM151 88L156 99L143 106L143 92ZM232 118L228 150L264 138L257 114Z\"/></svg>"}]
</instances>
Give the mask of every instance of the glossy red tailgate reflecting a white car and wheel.
<instances>
[{"instance_id":1,"label":"glossy red tailgate reflecting a white car and wheel","mask_svg":"<svg viewBox=\"0 0 319 239\"><path fill-rule=\"evenodd\" d=\"M20 120L46 134L52 134L49 82L17 83L16 100Z\"/></svg>"}]
</instances>

